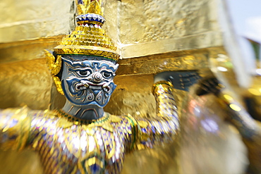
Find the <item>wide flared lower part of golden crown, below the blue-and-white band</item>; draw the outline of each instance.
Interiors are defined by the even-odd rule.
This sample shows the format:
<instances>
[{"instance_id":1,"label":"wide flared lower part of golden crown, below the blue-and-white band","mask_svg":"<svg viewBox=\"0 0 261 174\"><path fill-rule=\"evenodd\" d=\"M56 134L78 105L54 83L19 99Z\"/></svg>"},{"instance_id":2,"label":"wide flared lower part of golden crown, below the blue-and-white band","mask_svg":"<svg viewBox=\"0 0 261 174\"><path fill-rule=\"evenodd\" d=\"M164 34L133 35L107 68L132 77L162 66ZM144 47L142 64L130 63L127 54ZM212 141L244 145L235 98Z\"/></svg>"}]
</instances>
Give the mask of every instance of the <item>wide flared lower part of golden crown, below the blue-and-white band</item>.
<instances>
[{"instance_id":1,"label":"wide flared lower part of golden crown, below the blue-and-white band","mask_svg":"<svg viewBox=\"0 0 261 174\"><path fill-rule=\"evenodd\" d=\"M54 48L56 54L77 54L104 56L119 60L116 46L101 28L78 26L71 35L63 37L61 44Z\"/></svg>"}]
</instances>

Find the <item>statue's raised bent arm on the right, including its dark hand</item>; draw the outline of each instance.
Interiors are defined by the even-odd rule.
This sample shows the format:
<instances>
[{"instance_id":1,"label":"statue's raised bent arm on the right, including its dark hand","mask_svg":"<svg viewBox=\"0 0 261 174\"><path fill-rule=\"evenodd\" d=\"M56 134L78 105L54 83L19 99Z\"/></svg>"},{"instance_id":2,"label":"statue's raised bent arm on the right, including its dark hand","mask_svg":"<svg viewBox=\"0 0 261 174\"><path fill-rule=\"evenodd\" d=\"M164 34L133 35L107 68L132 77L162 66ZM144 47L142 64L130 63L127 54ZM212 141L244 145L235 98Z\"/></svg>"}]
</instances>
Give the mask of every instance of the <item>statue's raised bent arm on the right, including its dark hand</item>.
<instances>
[{"instance_id":1,"label":"statue's raised bent arm on the right, including its dark hand","mask_svg":"<svg viewBox=\"0 0 261 174\"><path fill-rule=\"evenodd\" d=\"M154 76L152 93L156 100L157 116L133 118L133 125L135 125L133 137L138 139L135 142L136 149L151 148L176 139L180 132L180 118L172 89L175 87L175 89L188 91L188 88L200 78L200 75L193 70L166 71Z\"/></svg>"}]
</instances>

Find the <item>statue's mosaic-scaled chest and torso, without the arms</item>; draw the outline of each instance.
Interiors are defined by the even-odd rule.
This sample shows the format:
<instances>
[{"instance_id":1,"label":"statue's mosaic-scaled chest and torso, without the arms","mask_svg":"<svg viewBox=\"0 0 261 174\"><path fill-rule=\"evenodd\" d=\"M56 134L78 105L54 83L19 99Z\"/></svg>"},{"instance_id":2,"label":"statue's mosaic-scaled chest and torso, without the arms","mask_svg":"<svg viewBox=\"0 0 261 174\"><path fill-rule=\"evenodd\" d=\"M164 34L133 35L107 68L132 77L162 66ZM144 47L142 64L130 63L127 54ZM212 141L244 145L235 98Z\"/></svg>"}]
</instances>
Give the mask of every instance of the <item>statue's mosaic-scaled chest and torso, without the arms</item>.
<instances>
[{"instance_id":1,"label":"statue's mosaic-scaled chest and torso, without the arms","mask_svg":"<svg viewBox=\"0 0 261 174\"><path fill-rule=\"evenodd\" d=\"M45 114L32 120L32 132L45 173L119 173L132 142L128 119L116 116L75 125Z\"/></svg>"}]
</instances>

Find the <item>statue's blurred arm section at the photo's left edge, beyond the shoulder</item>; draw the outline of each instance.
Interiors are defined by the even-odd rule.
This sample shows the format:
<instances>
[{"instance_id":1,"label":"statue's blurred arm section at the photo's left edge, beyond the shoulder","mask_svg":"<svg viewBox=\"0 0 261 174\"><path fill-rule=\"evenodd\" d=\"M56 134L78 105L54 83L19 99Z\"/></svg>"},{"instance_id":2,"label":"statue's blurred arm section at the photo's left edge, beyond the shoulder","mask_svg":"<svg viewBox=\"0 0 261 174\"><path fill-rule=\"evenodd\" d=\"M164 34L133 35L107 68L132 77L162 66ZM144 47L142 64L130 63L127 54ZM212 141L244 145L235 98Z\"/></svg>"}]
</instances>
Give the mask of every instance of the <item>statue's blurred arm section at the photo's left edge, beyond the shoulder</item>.
<instances>
[{"instance_id":1,"label":"statue's blurred arm section at the photo's left edge, beyond the shoulder","mask_svg":"<svg viewBox=\"0 0 261 174\"><path fill-rule=\"evenodd\" d=\"M23 149L29 138L28 108L0 110L0 149Z\"/></svg>"}]
</instances>

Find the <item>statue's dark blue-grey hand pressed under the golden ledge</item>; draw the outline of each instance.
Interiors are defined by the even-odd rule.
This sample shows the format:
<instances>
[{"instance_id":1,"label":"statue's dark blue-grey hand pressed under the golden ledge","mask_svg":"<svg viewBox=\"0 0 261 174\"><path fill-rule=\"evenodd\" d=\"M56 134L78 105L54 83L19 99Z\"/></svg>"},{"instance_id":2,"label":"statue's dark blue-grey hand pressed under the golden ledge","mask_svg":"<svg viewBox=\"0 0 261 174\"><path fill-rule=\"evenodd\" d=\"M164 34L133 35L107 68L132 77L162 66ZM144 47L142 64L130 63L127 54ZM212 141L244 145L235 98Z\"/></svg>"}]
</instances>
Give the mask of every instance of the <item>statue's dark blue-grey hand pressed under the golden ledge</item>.
<instances>
[{"instance_id":1,"label":"statue's dark blue-grey hand pressed under the golden ledge","mask_svg":"<svg viewBox=\"0 0 261 174\"><path fill-rule=\"evenodd\" d=\"M169 81L175 89L188 91L188 88L200 79L197 71L165 71L154 76L154 82Z\"/></svg>"}]
</instances>

